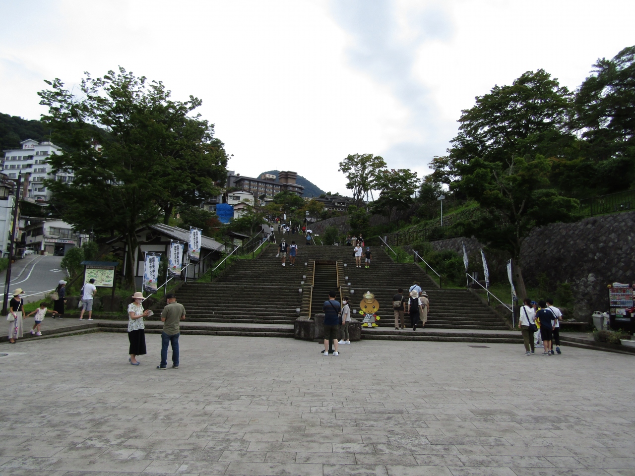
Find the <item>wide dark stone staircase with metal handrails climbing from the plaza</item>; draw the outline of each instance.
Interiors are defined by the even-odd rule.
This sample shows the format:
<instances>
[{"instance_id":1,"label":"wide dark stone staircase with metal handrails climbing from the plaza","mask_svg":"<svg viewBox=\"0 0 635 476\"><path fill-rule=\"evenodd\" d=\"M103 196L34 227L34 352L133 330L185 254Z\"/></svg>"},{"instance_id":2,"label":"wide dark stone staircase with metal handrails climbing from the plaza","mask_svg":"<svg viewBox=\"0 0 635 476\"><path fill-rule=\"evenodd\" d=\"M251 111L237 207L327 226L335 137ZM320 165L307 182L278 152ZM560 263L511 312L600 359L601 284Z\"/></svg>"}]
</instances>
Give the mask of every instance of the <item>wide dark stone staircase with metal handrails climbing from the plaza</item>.
<instances>
[{"instance_id":1,"label":"wide dark stone staircase with metal handrails climbing from the plaza","mask_svg":"<svg viewBox=\"0 0 635 476\"><path fill-rule=\"evenodd\" d=\"M177 298L187 310L183 333L291 337L293 322L300 311L308 314L311 284L314 284L311 300L314 315L322 312L328 291L338 289L339 277L342 293L351 296L353 310L359 310L359 301L366 291L375 294L380 303L380 327L363 328L362 338L509 341L509 336L496 333L507 329L504 322L476 296L462 289L438 289L420 267L394 263L382 248L371 249L373 259L369 269L356 268L350 246L307 246L302 235L285 238L289 243L295 240L300 247L295 266L290 265L288 257L286 266L281 266L281 259L276 258L277 244L272 244L255 260L235 261L215 282L188 282L181 286ZM277 243L280 239L276 232ZM411 329L396 331L392 312L392 296L398 288L405 289L407 295L413 281L427 291L431 302L427 325L423 331L417 331L420 333L417 336L411 335ZM160 322L152 321L158 320L159 314L147 320L149 330L153 324L157 329L160 327ZM470 330L478 331L478 336L472 336ZM437 332L427 336L426 331Z\"/></svg>"}]
</instances>

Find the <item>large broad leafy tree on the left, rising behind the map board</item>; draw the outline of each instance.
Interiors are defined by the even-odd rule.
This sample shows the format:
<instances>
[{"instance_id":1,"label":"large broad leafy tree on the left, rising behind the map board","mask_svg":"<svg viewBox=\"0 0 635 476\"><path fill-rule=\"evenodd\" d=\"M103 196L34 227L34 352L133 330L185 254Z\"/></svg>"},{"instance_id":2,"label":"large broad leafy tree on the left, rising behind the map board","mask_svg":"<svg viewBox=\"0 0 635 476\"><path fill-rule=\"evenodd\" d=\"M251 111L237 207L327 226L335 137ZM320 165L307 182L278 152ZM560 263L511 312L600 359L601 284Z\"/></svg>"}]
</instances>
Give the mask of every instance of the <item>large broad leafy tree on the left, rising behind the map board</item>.
<instances>
[{"instance_id":1,"label":"large broad leafy tree on the left, rising behind the map board","mask_svg":"<svg viewBox=\"0 0 635 476\"><path fill-rule=\"evenodd\" d=\"M128 286L133 287L136 230L171 213L175 204L215 192L225 166L222 143L206 121L187 116L200 105L170 100L160 82L119 68L83 79L81 97L60 79L46 81L41 104L64 152L50 158L53 173L72 170L74 182L48 180L60 215L78 230L120 234L126 242ZM195 164L197 160L201 164ZM179 183L175 183L179 182Z\"/></svg>"}]
</instances>

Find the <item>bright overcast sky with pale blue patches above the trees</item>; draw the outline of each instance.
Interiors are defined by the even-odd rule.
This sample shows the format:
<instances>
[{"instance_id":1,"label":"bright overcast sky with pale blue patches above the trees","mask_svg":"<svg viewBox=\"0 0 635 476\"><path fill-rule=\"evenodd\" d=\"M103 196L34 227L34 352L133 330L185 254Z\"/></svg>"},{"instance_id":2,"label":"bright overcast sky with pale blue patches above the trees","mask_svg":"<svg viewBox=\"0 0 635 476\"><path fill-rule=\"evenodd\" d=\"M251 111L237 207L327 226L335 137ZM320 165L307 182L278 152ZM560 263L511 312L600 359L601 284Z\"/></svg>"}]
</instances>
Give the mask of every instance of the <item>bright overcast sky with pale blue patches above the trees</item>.
<instances>
[{"instance_id":1,"label":"bright overcast sky with pale blue patches above the trees","mask_svg":"<svg viewBox=\"0 0 635 476\"><path fill-rule=\"evenodd\" d=\"M632 0L0 0L0 112L39 119L44 79L122 66L201 98L229 169L350 195L347 155L424 176L475 96L540 68L575 89L634 20Z\"/></svg>"}]
</instances>

